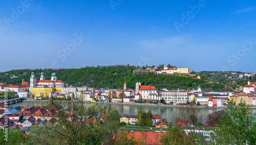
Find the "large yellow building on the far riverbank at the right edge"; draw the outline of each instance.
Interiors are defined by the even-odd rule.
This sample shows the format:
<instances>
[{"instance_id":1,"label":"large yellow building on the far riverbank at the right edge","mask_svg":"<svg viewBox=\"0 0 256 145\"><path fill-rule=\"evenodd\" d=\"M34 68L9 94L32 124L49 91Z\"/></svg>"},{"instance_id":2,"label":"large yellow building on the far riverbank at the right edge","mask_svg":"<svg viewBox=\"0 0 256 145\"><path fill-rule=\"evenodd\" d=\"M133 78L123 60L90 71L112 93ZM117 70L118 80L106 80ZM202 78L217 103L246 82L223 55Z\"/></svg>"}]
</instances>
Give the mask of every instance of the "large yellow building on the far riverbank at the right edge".
<instances>
[{"instance_id":1,"label":"large yellow building on the far riverbank at the right edge","mask_svg":"<svg viewBox=\"0 0 256 145\"><path fill-rule=\"evenodd\" d=\"M236 93L236 94L230 96L230 99L233 99L233 101L235 101L237 105L240 102L244 102L245 105L253 105L252 95L246 94L246 93L243 93L243 92Z\"/></svg>"}]
</instances>

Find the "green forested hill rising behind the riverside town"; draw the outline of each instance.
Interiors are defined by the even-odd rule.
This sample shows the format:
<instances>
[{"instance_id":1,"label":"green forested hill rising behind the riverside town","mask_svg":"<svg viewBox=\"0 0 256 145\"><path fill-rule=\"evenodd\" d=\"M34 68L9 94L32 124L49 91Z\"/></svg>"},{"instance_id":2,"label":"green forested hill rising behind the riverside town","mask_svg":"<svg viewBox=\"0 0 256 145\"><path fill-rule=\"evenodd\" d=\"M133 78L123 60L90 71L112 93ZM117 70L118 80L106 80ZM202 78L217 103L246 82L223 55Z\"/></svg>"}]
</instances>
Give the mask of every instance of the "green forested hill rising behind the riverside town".
<instances>
[{"instance_id":1,"label":"green forested hill rising behind the riverside town","mask_svg":"<svg viewBox=\"0 0 256 145\"><path fill-rule=\"evenodd\" d=\"M36 79L39 80L40 73L44 72L46 80L49 80L51 74L55 72L57 79L62 80L72 86L88 86L100 88L123 88L126 81L128 88L135 89L135 83L141 82L142 85L157 85L157 88L168 89L197 89L198 85L202 89L223 90L222 84L210 84L201 79L193 79L191 77L182 77L178 75L154 75L151 73L133 74L134 69L139 66L115 65L115 66L97 66L83 67L72 69L18 69L6 72L0 72L0 82L7 84L20 84L22 79L30 83L31 72L35 72ZM24 75L24 72L25 73ZM6 75L6 74L9 75ZM14 75L17 78L11 79Z\"/></svg>"}]
</instances>

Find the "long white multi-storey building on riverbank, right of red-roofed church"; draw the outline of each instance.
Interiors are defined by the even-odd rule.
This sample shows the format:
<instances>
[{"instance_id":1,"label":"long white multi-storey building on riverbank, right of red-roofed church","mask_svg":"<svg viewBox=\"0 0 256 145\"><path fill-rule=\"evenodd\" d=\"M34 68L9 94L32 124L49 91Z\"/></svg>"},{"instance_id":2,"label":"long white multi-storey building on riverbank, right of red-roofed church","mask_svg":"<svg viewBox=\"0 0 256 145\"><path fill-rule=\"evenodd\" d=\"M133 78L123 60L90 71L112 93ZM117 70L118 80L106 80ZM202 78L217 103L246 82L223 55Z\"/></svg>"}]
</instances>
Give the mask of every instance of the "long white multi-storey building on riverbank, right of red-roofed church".
<instances>
[{"instance_id":1,"label":"long white multi-storey building on riverbank, right of red-roofed church","mask_svg":"<svg viewBox=\"0 0 256 145\"><path fill-rule=\"evenodd\" d=\"M174 104L187 103L188 94L185 91L162 91L162 98L166 103Z\"/></svg>"}]
</instances>

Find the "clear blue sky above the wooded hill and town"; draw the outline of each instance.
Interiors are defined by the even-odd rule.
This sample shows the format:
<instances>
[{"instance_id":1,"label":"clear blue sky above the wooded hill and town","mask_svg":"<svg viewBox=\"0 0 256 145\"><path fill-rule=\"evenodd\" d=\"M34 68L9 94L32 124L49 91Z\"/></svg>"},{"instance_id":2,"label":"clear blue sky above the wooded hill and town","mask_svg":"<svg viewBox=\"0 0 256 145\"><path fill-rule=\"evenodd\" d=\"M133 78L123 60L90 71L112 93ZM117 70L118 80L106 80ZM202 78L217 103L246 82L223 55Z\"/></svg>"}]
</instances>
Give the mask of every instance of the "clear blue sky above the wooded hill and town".
<instances>
[{"instance_id":1,"label":"clear blue sky above the wooded hill and town","mask_svg":"<svg viewBox=\"0 0 256 145\"><path fill-rule=\"evenodd\" d=\"M0 2L0 71L170 63L256 72L256 1L20 2Z\"/></svg>"}]
</instances>

